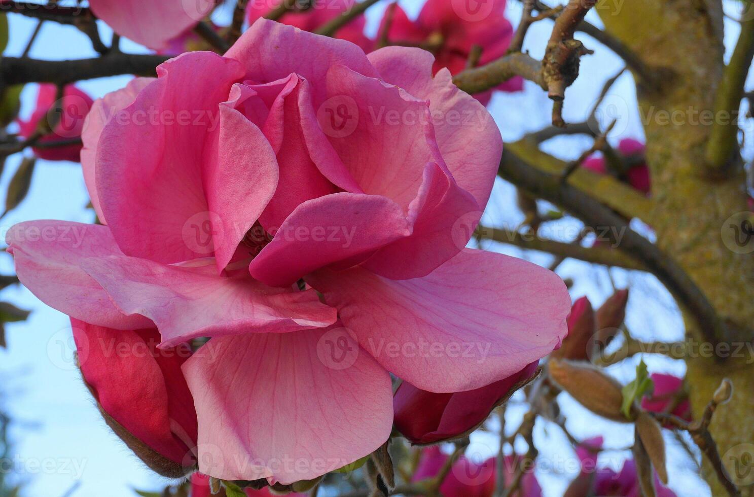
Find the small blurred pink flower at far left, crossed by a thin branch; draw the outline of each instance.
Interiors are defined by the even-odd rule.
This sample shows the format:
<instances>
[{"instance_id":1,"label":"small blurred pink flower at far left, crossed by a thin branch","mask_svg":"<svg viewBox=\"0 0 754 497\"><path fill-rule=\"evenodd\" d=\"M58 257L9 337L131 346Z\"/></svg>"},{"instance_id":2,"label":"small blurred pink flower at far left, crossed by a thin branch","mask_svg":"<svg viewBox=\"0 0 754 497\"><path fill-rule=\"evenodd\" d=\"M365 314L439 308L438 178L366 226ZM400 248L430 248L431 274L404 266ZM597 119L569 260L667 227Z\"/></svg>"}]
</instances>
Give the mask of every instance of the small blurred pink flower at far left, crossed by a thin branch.
<instances>
[{"instance_id":1,"label":"small blurred pink flower at far left, crossed by a thin branch","mask_svg":"<svg viewBox=\"0 0 754 497\"><path fill-rule=\"evenodd\" d=\"M29 138L42 121L51 119L56 122L53 130L41 137L38 143L55 143L81 137L81 128L84 127L84 119L92 103L89 95L68 84L63 88L62 103L57 104L57 86L49 83L40 84L37 103L31 117L27 121L18 121L19 134ZM32 150L37 157L48 161L78 162L81 145L33 147Z\"/></svg>"}]
</instances>

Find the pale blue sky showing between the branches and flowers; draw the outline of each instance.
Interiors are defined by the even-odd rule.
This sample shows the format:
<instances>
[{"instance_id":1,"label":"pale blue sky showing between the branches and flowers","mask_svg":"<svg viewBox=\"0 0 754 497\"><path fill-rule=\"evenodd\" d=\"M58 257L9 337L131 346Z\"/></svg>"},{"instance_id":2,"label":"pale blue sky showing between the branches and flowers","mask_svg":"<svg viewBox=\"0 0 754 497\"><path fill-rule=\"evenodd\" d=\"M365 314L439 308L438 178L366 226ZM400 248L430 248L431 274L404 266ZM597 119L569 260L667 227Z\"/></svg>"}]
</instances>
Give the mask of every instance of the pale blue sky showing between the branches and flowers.
<instances>
[{"instance_id":1,"label":"pale blue sky showing between the branches and flowers","mask_svg":"<svg viewBox=\"0 0 754 497\"><path fill-rule=\"evenodd\" d=\"M407 11L415 13L421 4L402 1L401 5ZM730 12L735 11L732 3L726 2L726 7ZM382 8L382 5L377 5L369 11L369 29L372 32L379 22ZM520 17L520 4L510 2L509 11L510 18L517 20ZM9 19L11 42L6 54L17 55L23 50L35 21L18 15L11 15ZM599 23L594 13L590 13L590 20ZM537 23L530 30L526 48L532 56L541 57L549 30L550 23ZM101 31L103 38L109 39L109 29L101 26ZM726 20L729 47L730 41L736 37L737 26ZM602 81L623 66L618 57L599 46L596 41L585 36L582 38L589 48L596 49L596 54L584 57L582 62L582 75L589 77L579 78L566 94L567 121L583 120L602 87ZM123 41L122 47L124 51L145 51L130 41ZM55 23L45 24L31 52L32 57L41 59L93 55L89 41L83 34L72 27ZM101 97L108 91L124 86L128 80L128 77L118 77L84 81L80 87L93 97ZM23 93L23 115L31 111L34 98L35 88L29 85ZM625 74L608 99L611 109L625 109L625 112L621 111L616 137L642 138L638 112L631 110L635 107L635 100L631 77ZM489 109L506 140L544 127L550 119L550 101L532 84L527 84L523 94L496 95ZM609 117L611 116L606 116L605 121ZM575 158L589 146L590 141L585 138L553 140L548 145L548 151L564 158ZM20 155L8 159L5 172L0 177L0 192L5 192L19 161ZM93 213L84 208L87 201L78 164L39 161L28 198L0 221L0 229L5 232L15 222L28 219L91 222ZM513 226L520 222L521 219L513 208L513 190L510 186L502 182L496 186L487 216L497 224ZM520 251L503 245L487 248L522 255ZM542 264L549 262L547 256L532 259ZM11 272L10 256L0 256L0 265L2 272ZM587 295L593 303L599 304L611 293L604 268L566 262L559 269L559 274L564 278L575 278L576 284L572 291L574 297ZM629 308L631 318L628 325L636 335L644 338L653 334L661 339L681 338L682 327L675 305L654 278L621 270L614 270L612 276L619 286L629 282L632 285L633 296ZM41 304L23 288L4 290L0 298L33 311L25 323L8 325L8 351L0 350L0 401L12 413L16 422L12 431L16 441L16 477L26 481L26 495L63 495L72 485L78 484L78 489L72 495L127 497L135 495L134 488L157 489L164 484L164 479L146 469L104 425L78 371L73 367L70 353L72 339L66 316ZM631 312L636 308L645 311L640 314ZM630 379L635 365L631 361L627 362L630 364L615 368L616 375L623 381ZM651 370L678 374L684 370L682 364L662 358L649 357L647 362ZM569 427L577 436L606 434L608 446L624 447L630 444L632 434L626 427L596 419L567 398L562 400L562 406L569 413ZM523 408L520 406L510 408L509 429L522 413ZM562 461L564 457L572 460L573 456L557 428L539 424L535 439L541 441L544 437L548 437L548 443L540 444L542 468L538 471L538 476L546 495L560 495L570 477L575 474ZM484 454L487 450L492 453L497 442L494 437L480 434L474 438L474 443L478 452ZM676 447L673 450L679 449ZM619 467L625 455L625 452L608 453L602 462ZM679 456L670 457L669 460L673 489L679 491L679 495L702 495L697 477L688 471L688 458ZM546 471L547 468L550 471Z\"/></svg>"}]
</instances>

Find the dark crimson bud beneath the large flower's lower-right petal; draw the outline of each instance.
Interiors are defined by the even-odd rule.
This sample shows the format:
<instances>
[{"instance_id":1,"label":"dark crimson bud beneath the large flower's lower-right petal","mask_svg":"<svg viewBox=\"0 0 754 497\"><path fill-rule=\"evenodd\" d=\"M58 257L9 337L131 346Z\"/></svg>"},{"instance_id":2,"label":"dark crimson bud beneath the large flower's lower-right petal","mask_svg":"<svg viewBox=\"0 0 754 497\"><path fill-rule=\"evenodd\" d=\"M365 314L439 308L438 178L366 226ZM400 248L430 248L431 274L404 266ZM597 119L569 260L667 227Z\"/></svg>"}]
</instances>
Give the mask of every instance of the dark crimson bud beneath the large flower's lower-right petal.
<instances>
[{"instance_id":1,"label":"dark crimson bud beneath the large flower's lower-right petal","mask_svg":"<svg viewBox=\"0 0 754 497\"><path fill-rule=\"evenodd\" d=\"M470 391L436 394L403 382L393 397L395 427L411 443L436 443L461 437L481 425L516 387L534 376L533 362L499 382Z\"/></svg>"}]
</instances>

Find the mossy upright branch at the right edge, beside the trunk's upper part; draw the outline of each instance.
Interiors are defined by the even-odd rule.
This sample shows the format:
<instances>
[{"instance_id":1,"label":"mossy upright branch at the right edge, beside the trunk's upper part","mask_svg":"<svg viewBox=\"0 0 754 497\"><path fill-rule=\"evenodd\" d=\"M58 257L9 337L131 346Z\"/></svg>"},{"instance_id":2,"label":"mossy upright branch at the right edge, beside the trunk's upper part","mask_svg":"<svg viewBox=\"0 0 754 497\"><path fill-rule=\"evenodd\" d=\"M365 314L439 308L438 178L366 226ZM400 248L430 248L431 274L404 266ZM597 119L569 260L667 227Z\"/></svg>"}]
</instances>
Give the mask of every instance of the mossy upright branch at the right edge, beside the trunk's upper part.
<instances>
[{"instance_id":1,"label":"mossy upright branch at the right edge, beside the trunk's upper part","mask_svg":"<svg viewBox=\"0 0 754 497\"><path fill-rule=\"evenodd\" d=\"M741 34L731 61L725 67L715 96L715 120L706 144L705 173L724 177L741 164L738 149L738 110L743 99L746 75L754 58L754 18L741 22Z\"/></svg>"}]
</instances>

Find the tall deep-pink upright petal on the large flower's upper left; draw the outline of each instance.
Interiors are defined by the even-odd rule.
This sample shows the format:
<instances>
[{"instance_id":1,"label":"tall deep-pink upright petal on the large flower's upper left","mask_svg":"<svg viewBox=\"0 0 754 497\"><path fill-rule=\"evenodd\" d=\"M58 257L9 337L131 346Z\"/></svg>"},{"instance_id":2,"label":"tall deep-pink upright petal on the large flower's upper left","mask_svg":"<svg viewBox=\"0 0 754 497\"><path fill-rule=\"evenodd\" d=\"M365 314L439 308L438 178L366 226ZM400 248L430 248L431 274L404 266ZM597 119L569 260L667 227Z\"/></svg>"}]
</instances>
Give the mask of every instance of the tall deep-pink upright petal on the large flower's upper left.
<instances>
[{"instance_id":1,"label":"tall deep-pink upright petal on the large flower's upper left","mask_svg":"<svg viewBox=\"0 0 754 497\"><path fill-rule=\"evenodd\" d=\"M243 70L235 60L192 52L161 65L158 75L103 129L97 194L124 253L169 263L212 251L191 238L192 227L212 217L201 159L219 103Z\"/></svg>"}]
</instances>

